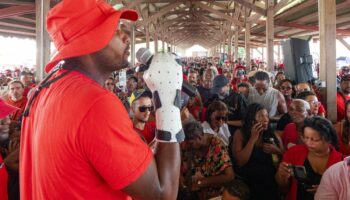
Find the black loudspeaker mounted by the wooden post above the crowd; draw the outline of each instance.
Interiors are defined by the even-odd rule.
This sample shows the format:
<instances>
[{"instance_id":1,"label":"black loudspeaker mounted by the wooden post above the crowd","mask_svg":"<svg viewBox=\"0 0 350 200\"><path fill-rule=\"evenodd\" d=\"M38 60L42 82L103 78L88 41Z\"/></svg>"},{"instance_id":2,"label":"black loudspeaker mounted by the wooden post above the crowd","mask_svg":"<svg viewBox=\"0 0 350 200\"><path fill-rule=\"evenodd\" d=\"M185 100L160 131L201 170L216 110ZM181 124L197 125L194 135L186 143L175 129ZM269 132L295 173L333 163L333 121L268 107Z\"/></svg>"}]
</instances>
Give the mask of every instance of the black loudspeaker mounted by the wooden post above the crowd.
<instances>
[{"instance_id":1,"label":"black loudspeaker mounted by the wooden post above the crowd","mask_svg":"<svg viewBox=\"0 0 350 200\"><path fill-rule=\"evenodd\" d=\"M296 83L313 79L309 41L296 38L282 41L282 51L285 64L284 73L287 78Z\"/></svg>"}]
</instances>

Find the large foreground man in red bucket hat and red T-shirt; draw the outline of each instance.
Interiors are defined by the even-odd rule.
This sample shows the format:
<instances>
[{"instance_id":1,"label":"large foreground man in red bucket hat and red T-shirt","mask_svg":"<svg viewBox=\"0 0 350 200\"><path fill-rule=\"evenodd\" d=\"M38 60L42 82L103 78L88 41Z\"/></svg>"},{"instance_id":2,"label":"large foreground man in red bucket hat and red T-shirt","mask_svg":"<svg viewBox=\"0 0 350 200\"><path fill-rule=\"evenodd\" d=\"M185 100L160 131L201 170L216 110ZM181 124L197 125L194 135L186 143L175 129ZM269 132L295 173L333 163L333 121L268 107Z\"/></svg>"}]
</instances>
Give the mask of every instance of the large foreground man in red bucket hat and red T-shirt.
<instances>
[{"instance_id":1,"label":"large foreground man in red bucket hat and red T-shirt","mask_svg":"<svg viewBox=\"0 0 350 200\"><path fill-rule=\"evenodd\" d=\"M128 65L120 19L137 18L102 0L63 0L50 10L58 54L24 112L21 199L176 199L179 144L158 142L153 156L123 104L102 87Z\"/></svg>"}]
</instances>

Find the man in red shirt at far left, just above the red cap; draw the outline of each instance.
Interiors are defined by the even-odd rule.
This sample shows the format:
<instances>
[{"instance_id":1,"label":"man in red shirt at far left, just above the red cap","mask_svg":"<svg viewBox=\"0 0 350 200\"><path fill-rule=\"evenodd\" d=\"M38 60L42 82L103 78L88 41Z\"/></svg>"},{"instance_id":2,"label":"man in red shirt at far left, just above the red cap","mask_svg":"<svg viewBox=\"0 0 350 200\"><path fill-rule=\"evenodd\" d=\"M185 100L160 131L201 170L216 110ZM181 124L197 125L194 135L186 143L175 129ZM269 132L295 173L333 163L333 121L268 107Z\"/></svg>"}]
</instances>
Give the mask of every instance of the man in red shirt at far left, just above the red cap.
<instances>
[{"instance_id":1,"label":"man in red shirt at far left, just above the red cap","mask_svg":"<svg viewBox=\"0 0 350 200\"><path fill-rule=\"evenodd\" d=\"M27 97L23 96L24 85L21 81L12 81L8 84L8 87L9 95L6 102L19 108L10 118L11 121L16 122L21 117L28 100Z\"/></svg>"}]
</instances>

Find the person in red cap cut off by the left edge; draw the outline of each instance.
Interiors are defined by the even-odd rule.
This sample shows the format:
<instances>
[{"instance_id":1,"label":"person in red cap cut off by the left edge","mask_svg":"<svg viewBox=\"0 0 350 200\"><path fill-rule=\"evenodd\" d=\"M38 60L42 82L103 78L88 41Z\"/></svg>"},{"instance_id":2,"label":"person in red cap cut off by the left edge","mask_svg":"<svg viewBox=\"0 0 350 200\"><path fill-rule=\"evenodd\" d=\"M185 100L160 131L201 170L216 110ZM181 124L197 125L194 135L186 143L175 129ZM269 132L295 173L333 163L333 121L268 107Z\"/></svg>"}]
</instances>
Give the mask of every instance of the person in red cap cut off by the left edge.
<instances>
[{"instance_id":1,"label":"person in red cap cut off by the left edge","mask_svg":"<svg viewBox=\"0 0 350 200\"><path fill-rule=\"evenodd\" d=\"M0 99L0 144L8 141L10 131L10 114L14 113L18 108L7 104L4 100ZM8 161L3 159L0 153L0 199L8 199L8 172L6 166Z\"/></svg>"}]
</instances>

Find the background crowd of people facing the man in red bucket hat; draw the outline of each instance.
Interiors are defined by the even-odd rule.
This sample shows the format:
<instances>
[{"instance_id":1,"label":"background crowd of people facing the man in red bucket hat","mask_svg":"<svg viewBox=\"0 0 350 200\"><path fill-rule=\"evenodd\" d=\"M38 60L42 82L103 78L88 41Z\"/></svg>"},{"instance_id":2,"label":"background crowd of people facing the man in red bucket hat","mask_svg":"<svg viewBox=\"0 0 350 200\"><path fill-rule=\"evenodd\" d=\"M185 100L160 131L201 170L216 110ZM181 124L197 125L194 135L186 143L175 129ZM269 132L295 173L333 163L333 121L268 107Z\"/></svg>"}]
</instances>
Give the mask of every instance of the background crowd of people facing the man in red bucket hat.
<instances>
[{"instance_id":1,"label":"background crowd of people facing the man in red bucket hat","mask_svg":"<svg viewBox=\"0 0 350 200\"><path fill-rule=\"evenodd\" d=\"M182 67L183 79L197 95L182 94L186 138L181 143L178 199L307 200L331 193L329 187L318 188L327 184L322 179L325 171L350 155L349 70L339 73L338 122L332 124L326 119L320 88L314 81L288 79L283 64L268 72L261 61L252 60L248 69L241 59L197 57L183 58ZM156 131L152 93L140 68L126 74L125 85L114 73L104 87L119 97L134 129L152 147ZM19 199L20 122L32 88L35 74L28 69L0 76L2 101L18 108L1 119L0 126L0 131L9 133L0 138L0 162L5 166L0 168L0 188L7 185L9 199ZM340 195L346 199L348 193Z\"/></svg>"}]
</instances>

